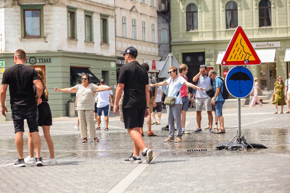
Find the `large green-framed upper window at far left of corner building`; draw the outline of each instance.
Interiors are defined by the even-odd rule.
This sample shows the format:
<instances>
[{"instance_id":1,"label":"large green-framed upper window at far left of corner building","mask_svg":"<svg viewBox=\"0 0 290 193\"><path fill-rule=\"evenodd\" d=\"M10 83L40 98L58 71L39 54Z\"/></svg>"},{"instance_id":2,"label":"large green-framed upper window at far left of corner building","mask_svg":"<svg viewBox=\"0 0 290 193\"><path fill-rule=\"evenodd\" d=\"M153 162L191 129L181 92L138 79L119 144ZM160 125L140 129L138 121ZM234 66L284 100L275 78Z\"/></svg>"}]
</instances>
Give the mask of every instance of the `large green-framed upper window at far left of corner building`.
<instances>
[{"instance_id":1,"label":"large green-framed upper window at far left of corner building","mask_svg":"<svg viewBox=\"0 0 290 193\"><path fill-rule=\"evenodd\" d=\"M21 5L21 37L44 37L43 5Z\"/></svg>"}]
</instances>

